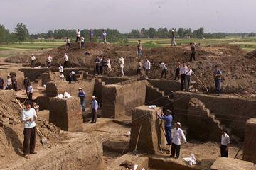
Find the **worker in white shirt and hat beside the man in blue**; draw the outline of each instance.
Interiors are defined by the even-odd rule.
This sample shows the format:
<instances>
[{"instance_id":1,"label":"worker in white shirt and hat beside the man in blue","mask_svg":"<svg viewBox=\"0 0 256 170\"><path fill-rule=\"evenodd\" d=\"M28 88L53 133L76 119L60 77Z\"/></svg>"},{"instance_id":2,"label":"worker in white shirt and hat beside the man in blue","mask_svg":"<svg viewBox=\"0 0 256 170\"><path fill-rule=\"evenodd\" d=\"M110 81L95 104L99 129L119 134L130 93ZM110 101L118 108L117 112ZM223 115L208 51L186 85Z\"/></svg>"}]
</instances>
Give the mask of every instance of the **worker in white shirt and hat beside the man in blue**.
<instances>
[{"instance_id":1,"label":"worker in white shirt and hat beside the man in blue","mask_svg":"<svg viewBox=\"0 0 256 170\"><path fill-rule=\"evenodd\" d=\"M184 135L183 130L181 129L181 123L177 122L175 123L174 135L171 144L171 157L174 157L175 154L176 158L179 157L181 150L181 138L183 139L183 142L186 143L186 137Z\"/></svg>"}]
</instances>

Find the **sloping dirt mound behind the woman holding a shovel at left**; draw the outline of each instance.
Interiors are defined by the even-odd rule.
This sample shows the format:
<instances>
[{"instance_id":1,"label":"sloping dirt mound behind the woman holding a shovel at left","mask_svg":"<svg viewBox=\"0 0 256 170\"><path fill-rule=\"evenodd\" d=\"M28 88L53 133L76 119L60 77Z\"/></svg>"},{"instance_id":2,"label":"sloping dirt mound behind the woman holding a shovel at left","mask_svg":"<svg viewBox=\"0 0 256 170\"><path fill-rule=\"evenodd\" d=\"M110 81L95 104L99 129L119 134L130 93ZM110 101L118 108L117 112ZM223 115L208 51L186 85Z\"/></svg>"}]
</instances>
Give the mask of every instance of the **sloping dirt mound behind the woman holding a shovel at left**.
<instances>
[{"instance_id":1,"label":"sloping dirt mound behind the woman holding a shovel at left","mask_svg":"<svg viewBox=\"0 0 256 170\"><path fill-rule=\"evenodd\" d=\"M0 91L0 169L8 166L10 160L23 159L23 123L22 109L16 101L14 91ZM68 139L60 132L60 128L48 123L43 118L36 120L37 128L47 137L46 147L53 147L60 141ZM37 135L36 150L42 149Z\"/></svg>"}]
</instances>

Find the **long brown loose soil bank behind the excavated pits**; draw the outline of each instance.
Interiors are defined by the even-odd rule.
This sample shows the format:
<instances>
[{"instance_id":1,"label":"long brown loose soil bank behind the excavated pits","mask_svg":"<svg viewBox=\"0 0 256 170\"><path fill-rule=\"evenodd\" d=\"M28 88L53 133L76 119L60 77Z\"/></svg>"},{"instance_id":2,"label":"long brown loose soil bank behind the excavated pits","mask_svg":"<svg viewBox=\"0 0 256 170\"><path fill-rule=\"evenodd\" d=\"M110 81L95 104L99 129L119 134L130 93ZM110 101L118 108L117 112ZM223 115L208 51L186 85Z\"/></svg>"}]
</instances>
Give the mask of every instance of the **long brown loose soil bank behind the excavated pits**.
<instances>
[{"instance_id":1,"label":"long brown loose soil bank behind the excavated pits","mask_svg":"<svg viewBox=\"0 0 256 170\"><path fill-rule=\"evenodd\" d=\"M113 44L86 44L85 49L79 49L79 43L72 44L73 49L68 50L65 45L36 56L36 65L44 66L46 57L53 57L53 66L58 67L64 62L64 53L69 56L69 67L87 67L93 69L95 57L102 55L110 57L113 66L118 63L119 57L124 57L124 74L134 76L136 74L137 47L135 45ZM144 57L151 61L150 78L159 78L161 70L158 62L165 62L168 66L168 79L174 79L176 60L188 62L195 70L196 75L203 81L211 92L214 92L213 67L217 64L223 71L223 90L225 93L251 96L256 92L256 57L255 51L246 55L238 46L213 46L196 47L196 62L189 62L190 48L188 46L144 48ZM251 56L251 57L245 57ZM144 62L144 57L142 62ZM8 62L28 62L29 56L11 57ZM118 67L110 73L120 75ZM196 78L193 78L196 80ZM203 86L196 84L196 88L203 90Z\"/></svg>"}]
</instances>

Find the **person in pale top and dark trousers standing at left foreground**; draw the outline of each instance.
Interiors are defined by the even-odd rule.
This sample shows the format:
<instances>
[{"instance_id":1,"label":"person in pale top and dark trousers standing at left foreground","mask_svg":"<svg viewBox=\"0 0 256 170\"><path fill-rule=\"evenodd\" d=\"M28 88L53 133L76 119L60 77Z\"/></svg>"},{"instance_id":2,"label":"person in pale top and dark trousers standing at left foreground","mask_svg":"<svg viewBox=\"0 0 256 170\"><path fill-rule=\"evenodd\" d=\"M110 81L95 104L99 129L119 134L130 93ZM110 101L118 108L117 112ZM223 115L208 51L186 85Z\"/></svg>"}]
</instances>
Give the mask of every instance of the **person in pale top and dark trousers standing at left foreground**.
<instances>
[{"instance_id":1,"label":"person in pale top and dark trousers standing at left foreground","mask_svg":"<svg viewBox=\"0 0 256 170\"><path fill-rule=\"evenodd\" d=\"M31 108L31 104L26 102L26 109L22 111L21 120L24 123L24 142L23 154L28 159L29 154L37 154L36 147L36 123L37 119L35 109Z\"/></svg>"}]
</instances>

